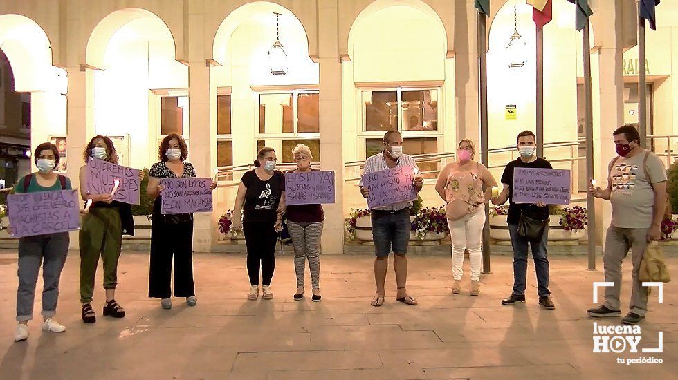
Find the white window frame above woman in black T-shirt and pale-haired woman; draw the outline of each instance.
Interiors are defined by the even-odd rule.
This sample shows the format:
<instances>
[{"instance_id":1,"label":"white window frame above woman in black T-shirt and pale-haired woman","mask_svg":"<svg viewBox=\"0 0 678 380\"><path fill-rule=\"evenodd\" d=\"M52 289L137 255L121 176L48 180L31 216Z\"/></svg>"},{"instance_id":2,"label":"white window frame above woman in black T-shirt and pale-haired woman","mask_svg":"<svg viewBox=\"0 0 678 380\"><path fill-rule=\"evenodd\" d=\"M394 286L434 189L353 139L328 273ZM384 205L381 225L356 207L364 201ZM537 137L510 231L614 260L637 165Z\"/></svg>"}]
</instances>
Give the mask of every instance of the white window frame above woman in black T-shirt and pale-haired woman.
<instances>
[{"instance_id":1,"label":"white window frame above woman in black T-shirt and pale-haired woman","mask_svg":"<svg viewBox=\"0 0 678 380\"><path fill-rule=\"evenodd\" d=\"M257 151L257 142L259 140L264 141L286 141L286 140L320 140L320 129L318 132L307 132L299 133L298 132L298 119L299 119L299 104L297 102L297 96L299 94L307 93L317 93L320 94L320 88L317 85L315 86L259 86L253 87L256 95L256 112L255 112L255 151ZM259 131L259 106L261 104L261 96L267 94L290 94L292 95L292 122L293 122L293 132L292 133L261 133ZM320 162L320 157L318 157L318 162ZM283 162L281 162L283 163ZM292 162L286 162L286 164L291 164ZM314 160L315 163L315 160Z\"/></svg>"}]
</instances>

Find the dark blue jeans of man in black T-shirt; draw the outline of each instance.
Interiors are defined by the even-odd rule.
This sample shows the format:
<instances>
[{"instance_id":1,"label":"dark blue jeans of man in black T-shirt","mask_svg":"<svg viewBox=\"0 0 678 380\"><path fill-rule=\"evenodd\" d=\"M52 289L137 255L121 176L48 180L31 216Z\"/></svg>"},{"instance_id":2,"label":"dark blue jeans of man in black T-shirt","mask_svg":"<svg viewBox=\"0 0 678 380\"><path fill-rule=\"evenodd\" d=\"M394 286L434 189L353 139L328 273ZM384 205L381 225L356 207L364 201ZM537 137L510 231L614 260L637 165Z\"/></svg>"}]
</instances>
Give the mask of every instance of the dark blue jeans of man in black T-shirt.
<instances>
[{"instance_id":1,"label":"dark blue jeans of man in black T-shirt","mask_svg":"<svg viewBox=\"0 0 678 380\"><path fill-rule=\"evenodd\" d=\"M549 242L549 227L544 229L541 240L530 241L518 235L517 225L508 225L508 233L511 235L513 245L513 294L525 295L527 282L527 245L532 247L534 269L537 272L537 294L540 297L550 296L549 291L549 259L547 258L547 243Z\"/></svg>"}]
</instances>

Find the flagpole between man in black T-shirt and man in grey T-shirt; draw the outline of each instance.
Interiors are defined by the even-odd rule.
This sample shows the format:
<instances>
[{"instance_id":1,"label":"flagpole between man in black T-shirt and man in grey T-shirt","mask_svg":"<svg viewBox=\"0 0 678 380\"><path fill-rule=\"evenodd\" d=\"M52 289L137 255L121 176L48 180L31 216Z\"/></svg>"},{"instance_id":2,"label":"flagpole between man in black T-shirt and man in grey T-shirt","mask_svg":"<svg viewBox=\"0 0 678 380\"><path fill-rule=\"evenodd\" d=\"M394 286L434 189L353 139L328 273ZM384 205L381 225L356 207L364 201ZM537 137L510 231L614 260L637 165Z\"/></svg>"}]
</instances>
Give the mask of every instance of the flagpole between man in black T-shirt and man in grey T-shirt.
<instances>
[{"instance_id":1,"label":"flagpole between man in black T-shirt and man in grey T-shirt","mask_svg":"<svg viewBox=\"0 0 678 380\"><path fill-rule=\"evenodd\" d=\"M589 39L589 21L584 25L582 33L584 57L584 126L586 131L586 178L594 178L593 149L593 89L591 83L591 42ZM587 234L589 270L596 270L596 202L592 193L587 194Z\"/></svg>"}]
</instances>

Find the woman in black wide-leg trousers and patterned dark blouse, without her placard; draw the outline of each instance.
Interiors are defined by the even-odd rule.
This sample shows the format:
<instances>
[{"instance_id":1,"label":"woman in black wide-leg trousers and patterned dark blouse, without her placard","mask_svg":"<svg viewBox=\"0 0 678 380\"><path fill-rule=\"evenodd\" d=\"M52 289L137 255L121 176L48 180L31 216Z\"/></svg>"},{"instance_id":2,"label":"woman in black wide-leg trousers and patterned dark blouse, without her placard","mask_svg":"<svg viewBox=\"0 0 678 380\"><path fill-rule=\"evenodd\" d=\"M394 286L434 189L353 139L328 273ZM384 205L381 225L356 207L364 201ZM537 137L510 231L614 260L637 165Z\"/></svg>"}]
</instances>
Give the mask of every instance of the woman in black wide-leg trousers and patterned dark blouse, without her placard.
<instances>
[{"instance_id":1,"label":"woman in black wide-leg trousers and patterned dark blouse, without her placard","mask_svg":"<svg viewBox=\"0 0 678 380\"><path fill-rule=\"evenodd\" d=\"M194 178L195 169L185 162L188 148L183 137L167 135L158 149L160 162L153 164L146 193L155 198L151 224L151 263L148 296L161 298L163 309L172 308L172 256L174 256L174 296L185 297L189 306L198 302L193 283L193 214L161 214L162 178ZM212 190L217 182L212 183Z\"/></svg>"}]
</instances>

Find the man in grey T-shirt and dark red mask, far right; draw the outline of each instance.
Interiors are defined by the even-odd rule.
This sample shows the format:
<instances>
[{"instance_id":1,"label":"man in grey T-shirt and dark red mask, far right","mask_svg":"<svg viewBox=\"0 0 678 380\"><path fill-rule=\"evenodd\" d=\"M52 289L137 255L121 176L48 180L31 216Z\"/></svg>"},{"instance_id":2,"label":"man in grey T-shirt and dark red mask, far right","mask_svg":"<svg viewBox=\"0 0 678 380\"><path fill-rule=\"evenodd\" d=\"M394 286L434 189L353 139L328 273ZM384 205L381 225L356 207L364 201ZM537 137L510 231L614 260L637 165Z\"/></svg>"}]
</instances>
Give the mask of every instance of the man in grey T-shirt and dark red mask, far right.
<instances>
[{"instance_id":1,"label":"man in grey T-shirt and dark red mask, far right","mask_svg":"<svg viewBox=\"0 0 678 380\"><path fill-rule=\"evenodd\" d=\"M607 187L590 187L596 198L612 202L612 224L605 238L605 303L587 314L596 318L621 316L621 263L631 250L633 269L629 314L621 322L635 325L645 319L648 292L638 278L645 248L659 240L661 220L666 207L666 169L651 151L640 146L640 136L633 126L621 126L613 133L618 157L607 167Z\"/></svg>"}]
</instances>

